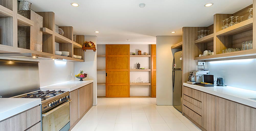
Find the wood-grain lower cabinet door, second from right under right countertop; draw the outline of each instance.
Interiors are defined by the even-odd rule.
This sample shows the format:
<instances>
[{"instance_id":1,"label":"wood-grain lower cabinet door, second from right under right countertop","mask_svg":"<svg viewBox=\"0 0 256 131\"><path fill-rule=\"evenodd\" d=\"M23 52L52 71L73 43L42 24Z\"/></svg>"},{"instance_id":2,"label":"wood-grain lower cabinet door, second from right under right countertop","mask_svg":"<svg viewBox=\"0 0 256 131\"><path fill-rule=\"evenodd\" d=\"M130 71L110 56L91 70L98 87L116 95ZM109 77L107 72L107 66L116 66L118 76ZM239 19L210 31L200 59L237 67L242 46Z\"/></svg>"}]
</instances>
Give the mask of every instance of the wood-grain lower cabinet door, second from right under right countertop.
<instances>
[{"instance_id":1,"label":"wood-grain lower cabinet door, second from right under right countertop","mask_svg":"<svg viewBox=\"0 0 256 131\"><path fill-rule=\"evenodd\" d=\"M216 130L237 130L237 103L216 98Z\"/></svg>"}]
</instances>

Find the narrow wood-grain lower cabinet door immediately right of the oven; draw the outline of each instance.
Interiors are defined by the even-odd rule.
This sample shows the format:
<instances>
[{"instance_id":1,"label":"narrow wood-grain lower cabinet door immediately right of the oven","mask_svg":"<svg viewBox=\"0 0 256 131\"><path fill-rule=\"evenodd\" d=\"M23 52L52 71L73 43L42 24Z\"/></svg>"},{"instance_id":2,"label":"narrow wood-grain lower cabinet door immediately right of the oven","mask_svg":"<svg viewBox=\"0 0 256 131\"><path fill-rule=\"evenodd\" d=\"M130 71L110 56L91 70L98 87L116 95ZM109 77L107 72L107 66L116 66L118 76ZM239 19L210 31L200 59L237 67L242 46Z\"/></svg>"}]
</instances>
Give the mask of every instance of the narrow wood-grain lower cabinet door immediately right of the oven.
<instances>
[{"instance_id":1,"label":"narrow wood-grain lower cabinet door immediately right of the oven","mask_svg":"<svg viewBox=\"0 0 256 131\"><path fill-rule=\"evenodd\" d=\"M72 126L79 119L78 112L78 90L69 92L70 102L70 126Z\"/></svg>"}]
</instances>

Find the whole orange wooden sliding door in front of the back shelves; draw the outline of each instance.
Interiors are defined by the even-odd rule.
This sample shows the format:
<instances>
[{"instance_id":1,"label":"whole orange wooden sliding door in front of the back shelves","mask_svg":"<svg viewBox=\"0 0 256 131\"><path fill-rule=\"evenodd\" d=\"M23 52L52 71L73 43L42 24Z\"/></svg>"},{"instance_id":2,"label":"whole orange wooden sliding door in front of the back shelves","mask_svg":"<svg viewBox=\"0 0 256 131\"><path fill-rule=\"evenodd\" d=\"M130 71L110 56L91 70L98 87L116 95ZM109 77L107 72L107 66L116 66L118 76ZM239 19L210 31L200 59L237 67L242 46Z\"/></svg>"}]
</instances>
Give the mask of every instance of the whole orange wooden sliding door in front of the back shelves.
<instances>
[{"instance_id":1,"label":"whole orange wooden sliding door in front of the back shelves","mask_svg":"<svg viewBox=\"0 0 256 131\"><path fill-rule=\"evenodd\" d=\"M106 97L130 97L130 45L106 45Z\"/></svg>"}]
</instances>

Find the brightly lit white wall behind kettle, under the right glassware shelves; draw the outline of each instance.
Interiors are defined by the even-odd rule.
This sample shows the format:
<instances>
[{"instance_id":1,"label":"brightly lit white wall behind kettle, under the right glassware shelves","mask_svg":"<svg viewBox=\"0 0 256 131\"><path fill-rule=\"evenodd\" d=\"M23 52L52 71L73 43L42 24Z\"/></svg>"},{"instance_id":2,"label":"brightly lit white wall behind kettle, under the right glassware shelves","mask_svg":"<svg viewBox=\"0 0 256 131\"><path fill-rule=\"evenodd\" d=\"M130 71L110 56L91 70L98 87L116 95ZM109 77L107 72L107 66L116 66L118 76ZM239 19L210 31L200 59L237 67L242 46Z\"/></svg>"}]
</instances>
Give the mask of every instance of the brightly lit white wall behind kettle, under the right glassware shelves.
<instances>
[{"instance_id":1,"label":"brightly lit white wall behind kettle, under the right glassware shelves","mask_svg":"<svg viewBox=\"0 0 256 131\"><path fill-rule=\"evenodd\" d=\"M213 61L206 66L215 80L222 77L225 85L256 91L256 59Z\"/></svg>"}]
</instances>

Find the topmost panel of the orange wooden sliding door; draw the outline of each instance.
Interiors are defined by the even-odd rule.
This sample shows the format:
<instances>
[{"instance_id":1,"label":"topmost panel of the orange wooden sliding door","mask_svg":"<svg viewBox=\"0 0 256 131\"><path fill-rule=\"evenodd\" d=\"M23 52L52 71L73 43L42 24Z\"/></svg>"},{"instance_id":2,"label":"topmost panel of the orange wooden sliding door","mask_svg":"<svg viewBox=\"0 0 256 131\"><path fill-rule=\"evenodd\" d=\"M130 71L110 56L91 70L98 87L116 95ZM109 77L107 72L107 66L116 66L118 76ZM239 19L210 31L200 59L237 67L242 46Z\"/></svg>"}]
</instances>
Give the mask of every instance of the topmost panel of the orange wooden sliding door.
<instances>
[{"instance_id":1,"label":"topmost panel of the orange wooden sliding door","mask_svg":"<svg viewBox=\"0 0 256 131\"><path fill-rule=\"evenodd\" d=\"M130 45L106 45L106 55L129 55Z\"/></svg>"}]
</instances>

